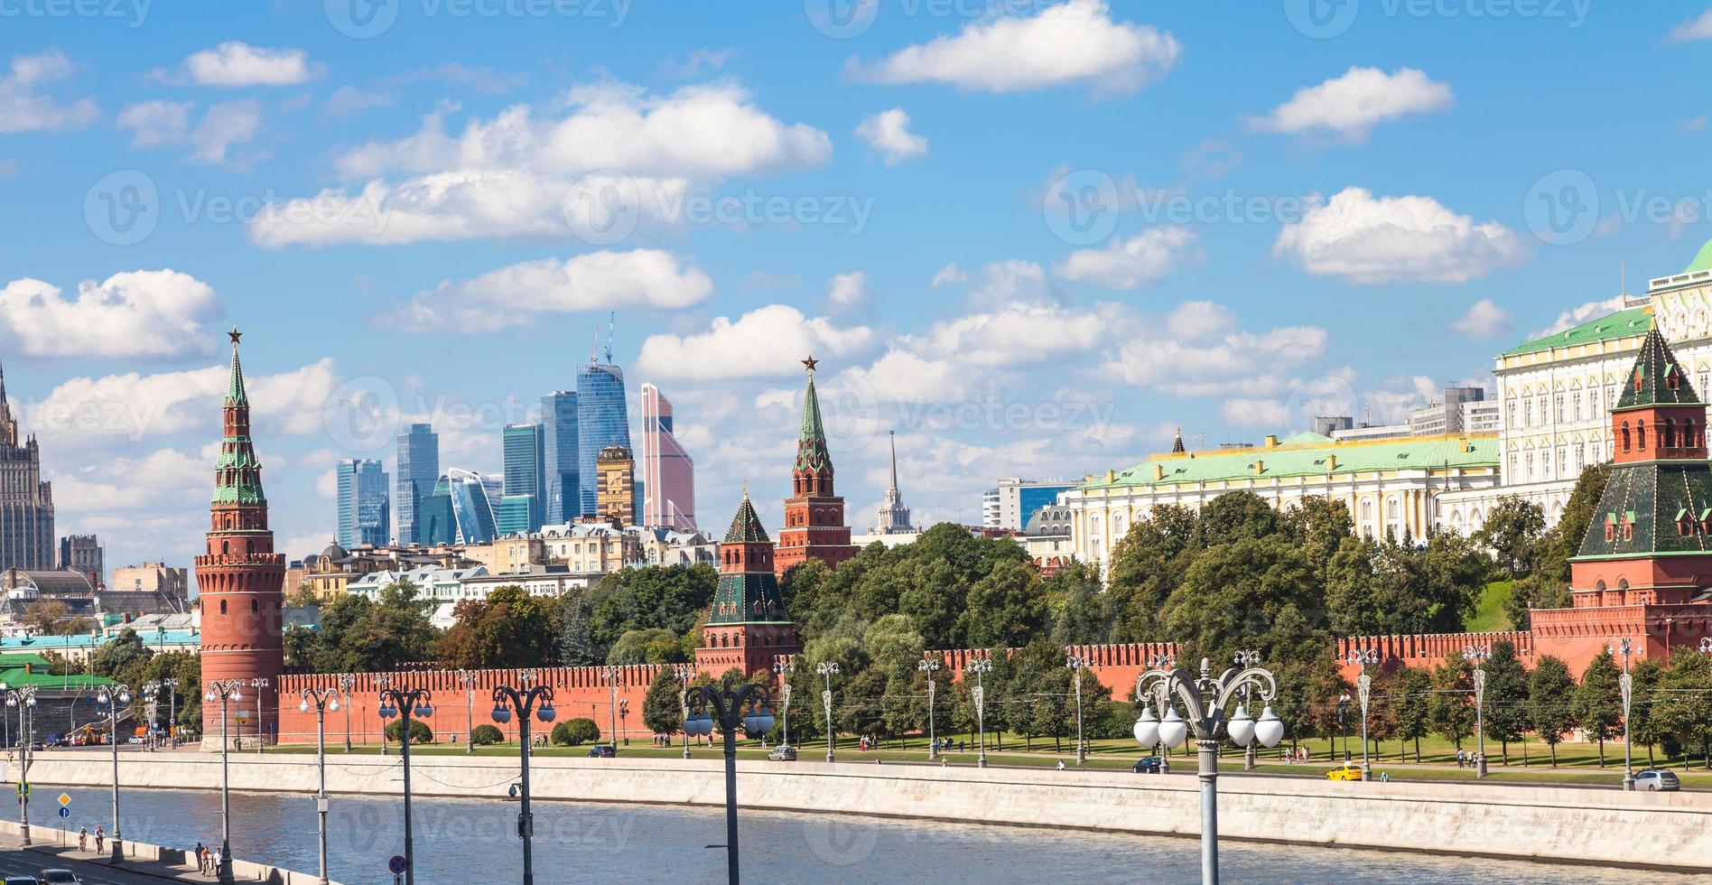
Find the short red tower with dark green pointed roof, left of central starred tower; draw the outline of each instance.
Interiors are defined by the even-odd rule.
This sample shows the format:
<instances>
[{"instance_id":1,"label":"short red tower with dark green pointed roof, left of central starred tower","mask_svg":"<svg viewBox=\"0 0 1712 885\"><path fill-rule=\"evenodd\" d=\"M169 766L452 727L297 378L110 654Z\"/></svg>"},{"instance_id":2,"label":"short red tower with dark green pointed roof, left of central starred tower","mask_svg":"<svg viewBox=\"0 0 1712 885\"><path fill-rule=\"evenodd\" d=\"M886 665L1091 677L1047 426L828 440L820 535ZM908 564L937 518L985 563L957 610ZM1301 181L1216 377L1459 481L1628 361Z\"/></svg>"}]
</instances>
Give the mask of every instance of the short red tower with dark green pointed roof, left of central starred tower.
<instances>
[{"instance_id":1,"label":"short red tower with dark green pointed roof, left of central starred tower","mask_svg":"<svg viewBox=\"0 0 1712 885\"><path fill-rule=\"evenodd\" d=\"M719 544L719 589L695 649L695 668L719 676L738 668L745 674L767 673L779 656L798 654L796 625L784 613L774 548L743 490L743 503Z\"/></svg>"}]
</instances>

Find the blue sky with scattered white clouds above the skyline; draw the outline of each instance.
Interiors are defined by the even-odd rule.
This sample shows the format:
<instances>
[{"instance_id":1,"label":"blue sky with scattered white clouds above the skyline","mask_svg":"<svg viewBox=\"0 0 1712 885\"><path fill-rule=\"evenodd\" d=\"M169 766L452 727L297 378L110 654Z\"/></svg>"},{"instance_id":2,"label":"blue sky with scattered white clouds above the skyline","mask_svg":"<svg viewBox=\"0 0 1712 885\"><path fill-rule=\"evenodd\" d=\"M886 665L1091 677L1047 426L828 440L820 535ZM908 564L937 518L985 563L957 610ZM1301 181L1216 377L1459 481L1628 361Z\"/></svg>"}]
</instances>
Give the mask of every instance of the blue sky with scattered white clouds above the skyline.
<instances>
[{"instance_id":1,"label":"blue sky with scattered white clouds above the skyline","mask_svg":"<svg viewBox=\"0 0 1712 885\"><path fill-rule=\"evenodd\" d=\"M1178 425L1394 418L1712 236L1703 3L830 2L0 2L60 531L200 548L231 324L291 556L401 421L496 469L608 312L704 526L745 479L777 526L810 349L853 526L894 428L978 520Z\"/></svg>"}]
</instances>

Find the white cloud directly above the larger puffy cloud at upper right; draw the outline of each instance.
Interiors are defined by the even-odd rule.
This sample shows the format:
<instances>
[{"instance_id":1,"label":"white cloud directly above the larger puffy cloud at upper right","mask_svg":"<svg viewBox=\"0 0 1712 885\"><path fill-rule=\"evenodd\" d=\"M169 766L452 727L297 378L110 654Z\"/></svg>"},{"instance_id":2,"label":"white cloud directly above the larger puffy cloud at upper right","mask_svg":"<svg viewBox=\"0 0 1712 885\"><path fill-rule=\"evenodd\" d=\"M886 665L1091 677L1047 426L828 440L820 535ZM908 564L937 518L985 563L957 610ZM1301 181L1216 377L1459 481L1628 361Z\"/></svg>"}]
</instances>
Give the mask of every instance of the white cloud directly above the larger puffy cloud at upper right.
<instances>
[{"instance_id":1,"label":"white cloud directly above the larger puffy cloud at upper right","mask_svg":"<svg viewBox=\"0 0 1712 885\"><path fill-rule=\"evenodd\" d=\"M1299 89L1267 116L1250 120L1265 132L1330 130L1361 142L1376 123L1450 108L1450 87L1416 68L1352 67L1342 77Z\"/></svg>"}]
</instances>

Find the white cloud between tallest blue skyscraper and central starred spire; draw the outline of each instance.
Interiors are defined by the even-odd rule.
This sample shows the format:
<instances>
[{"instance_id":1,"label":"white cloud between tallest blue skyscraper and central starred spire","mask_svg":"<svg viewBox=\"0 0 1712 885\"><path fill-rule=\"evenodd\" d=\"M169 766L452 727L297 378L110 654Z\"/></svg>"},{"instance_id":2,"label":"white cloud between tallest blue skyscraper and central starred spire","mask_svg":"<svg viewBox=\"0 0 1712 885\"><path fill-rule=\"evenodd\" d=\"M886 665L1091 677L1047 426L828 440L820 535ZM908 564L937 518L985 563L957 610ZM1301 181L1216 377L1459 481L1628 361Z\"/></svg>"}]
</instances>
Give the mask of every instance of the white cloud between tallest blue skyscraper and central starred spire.
<instances>
[{"instance_id":1,"label":"white cloud between tallest blue skyscraper and central starred spire","mask_svg":"<svg viewBox=\"0 0 1712 885\"><path fill-rule=\"evenodd\" d=\"M873 341L863 325L839 329L825 317L803 317L788 305L767 305L731 320L716 317L707 332L659 334L642 342L637 373L663 378L765 378L801 371L798 359L842 358Z\"/></svg>"}]
</instances>

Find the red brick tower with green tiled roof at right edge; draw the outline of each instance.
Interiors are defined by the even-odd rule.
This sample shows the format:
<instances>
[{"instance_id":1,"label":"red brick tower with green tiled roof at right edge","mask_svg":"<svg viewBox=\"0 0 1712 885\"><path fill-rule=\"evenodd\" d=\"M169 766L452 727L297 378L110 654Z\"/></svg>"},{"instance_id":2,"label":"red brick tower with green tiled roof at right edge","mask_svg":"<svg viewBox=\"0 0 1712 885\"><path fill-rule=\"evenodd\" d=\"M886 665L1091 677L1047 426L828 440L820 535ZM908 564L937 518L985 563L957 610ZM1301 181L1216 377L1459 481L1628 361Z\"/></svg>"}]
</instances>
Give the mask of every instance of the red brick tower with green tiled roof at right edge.
<instances>
[{"instance_id":1,"label":"red brick tower with green tiled roof at right edge","mask_svg":"<svg viewBox=\"0 0 1712 885\"><path fill-rule=\"evenodd\" d=\"M1635 640L1644 657L1697 645L1712 625L1712 466L1707 406L1676 354L1647 332L1611 407L1614 464L1580 551L1573 608L1532 613L1534 647L1572 668Z\"/></svg>"}]
</instances>

